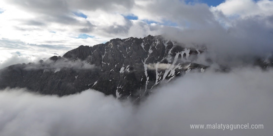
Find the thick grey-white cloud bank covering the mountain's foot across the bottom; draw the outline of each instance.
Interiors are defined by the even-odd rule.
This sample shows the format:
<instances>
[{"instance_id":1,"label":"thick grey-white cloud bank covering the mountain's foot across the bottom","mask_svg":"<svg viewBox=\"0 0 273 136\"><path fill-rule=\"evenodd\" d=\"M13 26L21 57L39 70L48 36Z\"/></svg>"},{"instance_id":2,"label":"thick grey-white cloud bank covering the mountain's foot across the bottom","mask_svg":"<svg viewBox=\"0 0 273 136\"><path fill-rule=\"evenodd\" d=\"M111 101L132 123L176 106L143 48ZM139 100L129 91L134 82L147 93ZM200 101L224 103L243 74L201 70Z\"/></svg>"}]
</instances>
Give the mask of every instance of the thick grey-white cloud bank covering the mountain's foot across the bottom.
<instances>
[{"instance_id":1,"label":"thick grey-white cloud bank covering the mountain's foot across the bottom","mask_svg":"<svg viewBox=\"0 0 273 136\"><path fill-rule=\"evenodd\" d=\"M0 91L0 135L270 135L273 71L189 73L139 105L94 90L57 97ZM263 124L261 130L190 129L190 124Z\"/></svg>"}]
</instances>

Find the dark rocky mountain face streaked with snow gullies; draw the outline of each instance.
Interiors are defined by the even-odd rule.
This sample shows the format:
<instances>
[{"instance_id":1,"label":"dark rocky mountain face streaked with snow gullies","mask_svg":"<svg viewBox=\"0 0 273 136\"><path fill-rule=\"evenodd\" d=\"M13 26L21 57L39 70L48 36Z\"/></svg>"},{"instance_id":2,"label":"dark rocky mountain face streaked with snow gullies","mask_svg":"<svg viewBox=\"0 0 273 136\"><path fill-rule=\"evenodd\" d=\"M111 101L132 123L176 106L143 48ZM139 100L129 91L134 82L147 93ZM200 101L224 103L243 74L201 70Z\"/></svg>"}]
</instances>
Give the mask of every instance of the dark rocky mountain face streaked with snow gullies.
<instances>
[{"instance_id":1,"label":"dark rocky mountain face streaked with snow gullies","mask_svg":"<svg viewBox=\"0 0 273 136\"><path fill-rule=\"evenodd\" d=\"M117 38L92 47L81 45L45 62L8 66L0 70L0 88L26 87L59 96L92 88L119 99L138 99L191 69L206 69L192 63L199 53L202 49L161 36Z\"/></svg>"}]
</instances>

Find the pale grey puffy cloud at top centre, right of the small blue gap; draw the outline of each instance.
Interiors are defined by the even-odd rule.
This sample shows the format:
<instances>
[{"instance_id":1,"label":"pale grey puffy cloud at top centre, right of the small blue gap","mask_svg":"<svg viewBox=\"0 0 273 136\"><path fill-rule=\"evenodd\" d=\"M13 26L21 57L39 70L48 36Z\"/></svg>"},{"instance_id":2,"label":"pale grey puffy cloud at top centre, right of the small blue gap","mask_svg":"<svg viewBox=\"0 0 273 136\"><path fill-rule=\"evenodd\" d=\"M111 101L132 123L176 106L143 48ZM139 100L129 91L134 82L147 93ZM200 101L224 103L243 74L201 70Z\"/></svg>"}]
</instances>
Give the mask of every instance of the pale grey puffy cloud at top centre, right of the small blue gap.
<instances>
[{"instance_id":1,"label":"pale grey puffy cloud at top centre, right of the small blue gap","mask_svg":"<svg viewBox=\"0 0 273 136\"><path fill-rule=\"evenodd\" d=\"M208 5L200 3L190 5L179 0L136 0L132 13L140 20L172 21L184 27L187 24L196 27L215 21Z\"/></svg>"}]
</instances>

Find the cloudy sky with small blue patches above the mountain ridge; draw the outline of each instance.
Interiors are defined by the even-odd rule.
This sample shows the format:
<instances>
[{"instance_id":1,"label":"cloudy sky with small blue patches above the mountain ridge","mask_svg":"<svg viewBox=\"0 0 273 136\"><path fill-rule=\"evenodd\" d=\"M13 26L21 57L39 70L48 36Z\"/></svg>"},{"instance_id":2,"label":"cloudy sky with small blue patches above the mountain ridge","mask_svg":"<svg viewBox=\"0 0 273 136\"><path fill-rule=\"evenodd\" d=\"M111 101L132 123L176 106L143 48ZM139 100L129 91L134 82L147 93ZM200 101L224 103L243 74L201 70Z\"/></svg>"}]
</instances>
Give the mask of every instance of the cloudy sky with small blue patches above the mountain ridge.
<instances>
[{"instance_id":1,"label":"cloudy sky with small blue patches above the mountain ridge","mask_svg":"<svg viewBox=\"0 0 273 136\"><path fill-rule=\"evenodd\" d=\"M0 64L5 67L62 56L79 45L93 46L113 38L167 34L181 39L177 35L188 35L190 29L202 32L206 28L210 32L243 37L249 34L248 28L257 28L258 31L253 29L257 35L248 37L265 37L266 41L272 38L272 3L271 0L2 0ZM204 39L196 38L188 42ZM207 40L213 38L211 35ZM198 44L204 43L213 45L206 40Z\"/></svg>"}]
</instances>

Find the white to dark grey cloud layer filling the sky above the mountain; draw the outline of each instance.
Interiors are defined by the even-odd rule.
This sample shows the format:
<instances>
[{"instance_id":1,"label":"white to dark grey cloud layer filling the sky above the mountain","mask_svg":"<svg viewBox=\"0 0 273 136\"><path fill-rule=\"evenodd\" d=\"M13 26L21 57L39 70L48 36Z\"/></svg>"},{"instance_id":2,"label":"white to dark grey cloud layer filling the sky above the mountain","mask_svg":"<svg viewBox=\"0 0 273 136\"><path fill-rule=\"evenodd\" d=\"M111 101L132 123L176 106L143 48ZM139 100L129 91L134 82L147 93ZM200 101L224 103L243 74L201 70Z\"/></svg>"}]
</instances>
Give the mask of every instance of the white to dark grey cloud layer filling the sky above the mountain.
<instances>
[{"instance_id":1,"label":"white to dark grey cloud layer filling the sky above the mountain","mask_svg":"<svg viewBox=\"0 0 273 136\"><path fill-rule=\"evenodd\" d=\"M241 65L273 51L269 0L226 0L215 7L180 0L4 0L0 5L5 11L0 14L0 38L9 53L24 49L30 56L55 48L63 54L79 45L159 34L189 46L206 45L208 57L223 65ZM7 46L15 41L16 46Z\"/></svg>"}]
</instances>

